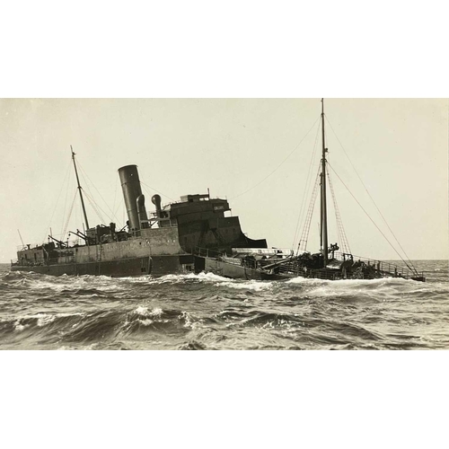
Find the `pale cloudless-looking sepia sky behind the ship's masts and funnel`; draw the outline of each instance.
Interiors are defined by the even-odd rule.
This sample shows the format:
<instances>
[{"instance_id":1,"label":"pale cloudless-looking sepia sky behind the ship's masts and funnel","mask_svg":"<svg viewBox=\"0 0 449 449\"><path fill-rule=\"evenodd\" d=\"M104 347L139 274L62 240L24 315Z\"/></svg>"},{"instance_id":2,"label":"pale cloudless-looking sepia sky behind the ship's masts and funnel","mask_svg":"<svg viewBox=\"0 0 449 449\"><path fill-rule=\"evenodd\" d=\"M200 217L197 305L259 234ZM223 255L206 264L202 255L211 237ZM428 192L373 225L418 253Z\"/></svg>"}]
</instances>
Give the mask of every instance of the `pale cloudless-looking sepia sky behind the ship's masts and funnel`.
<instances>
[{"instance_id":1,"label":"pale cloudless-looking sepia sky behind the ship's masts and funnel","mask_svg":"<svg viewBox=\"0 0 449 449\"><path fill-rule=\"evenodd\" d=\"M292 247L320 113L320 99L0 100L0 261L15 257L17 229L25 243L40 243L50 226L55 235L82 228L78 198L67 222L76 192L70 145L106 224L124 225L117 170L135 163L147 210L156 191L166 204L209 188L229 199L251 238ZM325 114L330 164L390 242L340 143L409 258L447 259L448 101L329 99ZM333 185L352 252L398 259L335 174ZM86 203L90 225L100 224ZM319 249L318 210L310 251Z\"/></svg>"}]
</instances>

